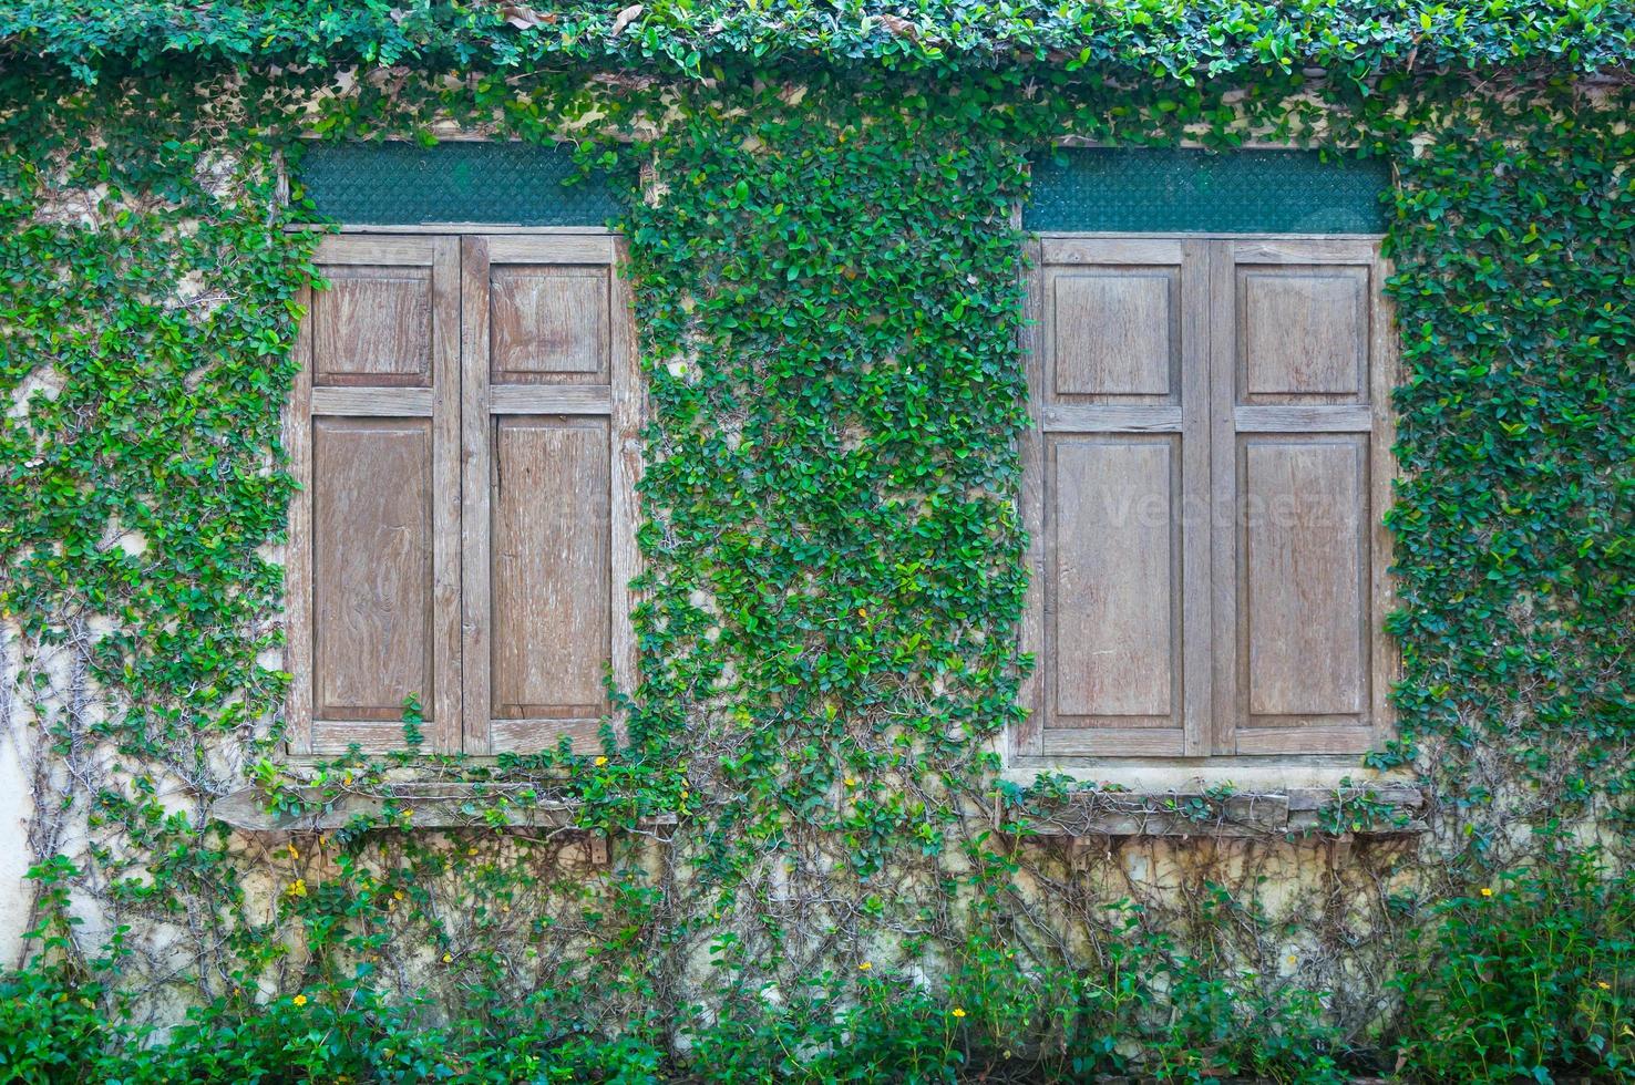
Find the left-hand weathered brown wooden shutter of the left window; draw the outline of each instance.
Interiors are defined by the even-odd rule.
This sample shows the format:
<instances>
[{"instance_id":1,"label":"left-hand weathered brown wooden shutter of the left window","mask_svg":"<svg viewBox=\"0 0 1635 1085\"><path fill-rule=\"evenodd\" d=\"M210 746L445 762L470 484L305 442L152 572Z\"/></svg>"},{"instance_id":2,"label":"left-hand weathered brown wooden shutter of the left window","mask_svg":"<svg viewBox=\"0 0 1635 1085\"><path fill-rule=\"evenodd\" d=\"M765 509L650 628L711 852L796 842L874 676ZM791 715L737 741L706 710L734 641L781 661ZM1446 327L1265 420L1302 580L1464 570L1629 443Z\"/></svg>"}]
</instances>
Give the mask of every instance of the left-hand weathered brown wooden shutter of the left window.
<instances>
[{"instance_id":1,"label":"left-hand weathered brown wooden shutter of the left window","mask_svg":"<svg viewBox=\"0 0 1635 1085\"><path fill-rule=\"evenodd\" d=\"M289 743L402 745L414 694L430 747L461 734L459 247L327 237L307 291L286 448Z\"/></svg>"}]
</instances>

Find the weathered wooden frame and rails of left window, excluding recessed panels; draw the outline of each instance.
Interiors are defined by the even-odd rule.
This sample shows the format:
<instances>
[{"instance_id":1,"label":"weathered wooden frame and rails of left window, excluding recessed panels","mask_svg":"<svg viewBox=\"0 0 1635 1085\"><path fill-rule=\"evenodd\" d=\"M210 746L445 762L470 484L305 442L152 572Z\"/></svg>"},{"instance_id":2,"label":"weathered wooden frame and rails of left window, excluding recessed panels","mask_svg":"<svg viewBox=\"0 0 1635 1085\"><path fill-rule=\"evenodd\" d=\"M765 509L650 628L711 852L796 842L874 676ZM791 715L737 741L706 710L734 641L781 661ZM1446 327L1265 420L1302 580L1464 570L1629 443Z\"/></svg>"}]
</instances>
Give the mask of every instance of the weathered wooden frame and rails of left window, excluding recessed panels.
<instances>
[{"instance_id":1,"label":"weathered wooden frame and rails of left window, excluding recessed panels","mask_svg":"<svg viewBox=\"0 0 1635 1085\"><path fill-rule=\"evenodd\" d=\"M605 384L540 384L528 389L489 386L487 260L526 255L540 263L605 266L610 279L608 379ZM355 722L314 719L314 489L312 422L319 417L391 413L430 417L433 503L432 719L423 727L427 753L466 753L479 761L490 752L489 659L489 426L492 413L603 417L608 426L610 477L610 667L620 690L638 681L633 613L639 596L641 425L644 387L634 333L634 296L621 275L628 248L605 229L507 227L484 224L342 225L319 242L320 265L415 263L433 275L433 387L391 389L370 402L353 389L314 387L314 337L302 319L294 358L299 369L283 413L283 440L298 490L289 503L284 560L286 645L291 675L284 701L286 757L311 763L337 757L356 742L365 752L402 748L402 722L383 722L358 734ZM479 266L481 265L481 266ZM312 312L312 289L298 297ZM453 317L450 317L453 314ZM373 395L383 391L370 389ZM495 395L499 394L499 395ZM497 400L497 402L495 402ZM448 454L441 454L446 449ZM471 665L481 660L481 665ZM471 706L484 706L471 711ZM623 737L616 711L613 729ZM316 742L329 734L330 742ZM592 748L595 727L571 734L576 750Z\"/></svg>"}]
</instances>

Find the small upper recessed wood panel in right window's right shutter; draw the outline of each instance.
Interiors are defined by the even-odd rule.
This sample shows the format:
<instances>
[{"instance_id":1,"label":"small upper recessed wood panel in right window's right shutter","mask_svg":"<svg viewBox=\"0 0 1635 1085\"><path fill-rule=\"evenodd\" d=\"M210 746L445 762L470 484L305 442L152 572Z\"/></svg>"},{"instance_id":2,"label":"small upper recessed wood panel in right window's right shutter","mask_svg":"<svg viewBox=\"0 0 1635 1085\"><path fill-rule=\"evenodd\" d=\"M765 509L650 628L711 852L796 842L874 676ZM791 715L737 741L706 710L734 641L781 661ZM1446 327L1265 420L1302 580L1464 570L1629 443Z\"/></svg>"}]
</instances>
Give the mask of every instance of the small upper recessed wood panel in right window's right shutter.
<instances>
[{"instance_id":1,"label":"small upper recessed wood panel in right window's right shutter","mask_svg":"<svg viewBox=\"0 0 1635 1085\"><path fill-rule=\"evenodd\" d=\"M1238 268L1239 402L1364 402L1368 268Z\"/></svg>"}]
</instances>

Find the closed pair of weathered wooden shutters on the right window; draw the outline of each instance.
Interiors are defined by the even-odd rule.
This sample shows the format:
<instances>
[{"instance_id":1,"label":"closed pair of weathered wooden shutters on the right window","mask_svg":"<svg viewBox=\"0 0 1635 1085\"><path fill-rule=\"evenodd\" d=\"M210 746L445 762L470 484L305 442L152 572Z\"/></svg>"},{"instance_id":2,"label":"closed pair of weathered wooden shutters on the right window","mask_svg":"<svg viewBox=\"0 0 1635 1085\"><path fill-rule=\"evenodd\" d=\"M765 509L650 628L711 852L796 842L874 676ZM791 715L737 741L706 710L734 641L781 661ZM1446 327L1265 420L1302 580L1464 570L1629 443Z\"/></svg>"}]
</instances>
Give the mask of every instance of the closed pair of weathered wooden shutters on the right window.
<instances>
[{"instance_id":1,"label":"closed pair of weathered wooden shutters on the right window","mask_svg":"<svg viewBox=\"0 0 1635 1085\"><path fill-rule=\"evenodd\" d=\"M1017 752L1354 753L1383 721L1368 242L1043 239Z\"/></svg>"}]
</instances>

